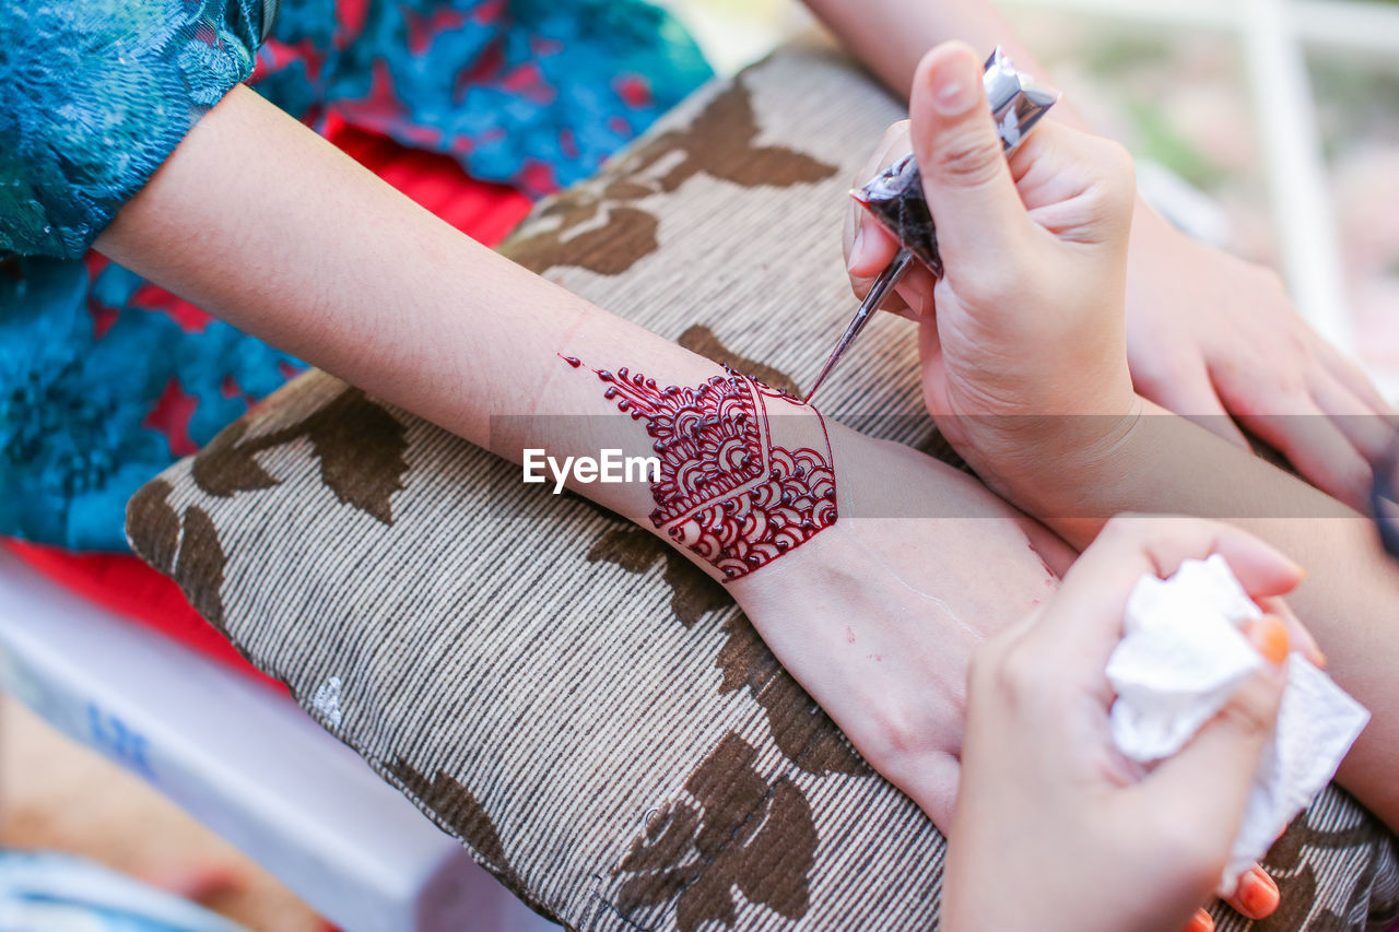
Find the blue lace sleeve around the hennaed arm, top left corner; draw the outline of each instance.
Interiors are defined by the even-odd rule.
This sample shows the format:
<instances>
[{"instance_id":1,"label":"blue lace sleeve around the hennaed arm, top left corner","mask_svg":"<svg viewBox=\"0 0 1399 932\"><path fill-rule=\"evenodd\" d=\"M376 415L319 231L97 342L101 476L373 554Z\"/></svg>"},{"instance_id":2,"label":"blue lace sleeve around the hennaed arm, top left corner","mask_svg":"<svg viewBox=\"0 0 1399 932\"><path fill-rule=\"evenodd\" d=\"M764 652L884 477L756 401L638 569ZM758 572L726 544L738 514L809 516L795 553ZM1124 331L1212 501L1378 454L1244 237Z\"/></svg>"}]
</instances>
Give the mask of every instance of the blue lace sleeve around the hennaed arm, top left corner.
<instances>
[{"instance_id":1,"label":"blue lace sleeve around the hennaed arm, top left corner","mask_svg":"<svg viewBox=\"0 0 1399 932\"><path fill-rule=\"evenodd\" d=\"M7 0L0 253L78 259L253 69L262 0Z\"/></svg>"}]
</instances>

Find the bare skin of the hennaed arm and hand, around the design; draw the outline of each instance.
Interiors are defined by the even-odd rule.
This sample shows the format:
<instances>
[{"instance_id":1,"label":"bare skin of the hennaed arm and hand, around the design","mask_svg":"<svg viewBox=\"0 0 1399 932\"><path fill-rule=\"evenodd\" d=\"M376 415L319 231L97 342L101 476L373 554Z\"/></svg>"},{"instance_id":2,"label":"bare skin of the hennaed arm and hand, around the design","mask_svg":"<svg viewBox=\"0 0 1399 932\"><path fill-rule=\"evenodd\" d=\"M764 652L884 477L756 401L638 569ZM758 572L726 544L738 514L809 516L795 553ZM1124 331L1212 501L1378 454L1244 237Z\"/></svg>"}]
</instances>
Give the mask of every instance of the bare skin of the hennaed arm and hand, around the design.
<instances>
[{"instance_id":1,"label":"bare skin of the hennaed arm and hand, around the design","mask_svg":"<svg viewBox=\"0 0 1399 932\"><path fill-rule=\"evenodd\" d=\"M525 448L652 453L597 375L564 357L660 385L726 375L470 241L245 88L200 120L98 249L516 462ZM797 407L771 418L772 442L816 448L820 418ZM560 414L574 417L530 417ZM946 827L971 651L1052 591L1073 554L974 479L825 427L844 516L729 591L866 758ZM645 483L575 491L656 530ZM929 518L883 516L902 514Z\"/></svg>"}]
</instances>

